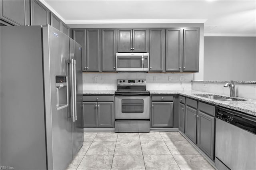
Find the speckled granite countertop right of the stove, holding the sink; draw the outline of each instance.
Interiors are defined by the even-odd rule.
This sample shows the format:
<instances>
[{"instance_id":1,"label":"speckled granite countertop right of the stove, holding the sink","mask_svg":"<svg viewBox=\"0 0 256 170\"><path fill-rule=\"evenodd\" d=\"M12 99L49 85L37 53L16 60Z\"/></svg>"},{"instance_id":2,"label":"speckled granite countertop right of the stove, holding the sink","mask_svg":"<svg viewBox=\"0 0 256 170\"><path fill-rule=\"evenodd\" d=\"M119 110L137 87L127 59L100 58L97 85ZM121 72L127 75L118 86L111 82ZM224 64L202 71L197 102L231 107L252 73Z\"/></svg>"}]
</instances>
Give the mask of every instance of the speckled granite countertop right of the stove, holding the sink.
<instances>
[{"instance_id":1,"label":"speckled granite countertop right of the stove, holding the sink","mask_svg":"<svg viewBox=\"0 0 256 170\"><path fill-rule=\"evenodd\" d=\"M197 96L197 94L198 95L205 95L205 94L218 95L218 94L195 91L195 90L150 90L150 94L179 94L186 97L190 97L192 99L197 99L200 101L211 103L213 105L219 105L229 109L234 109L236 111L241 111L241 112L247 113L248 115L253 115L256 117L256 100L252 100L252 99L236 97L238 99L245 99L246 101L218 101L214 99L207 99L205 97Z\"/></svg>"}]
</instances>

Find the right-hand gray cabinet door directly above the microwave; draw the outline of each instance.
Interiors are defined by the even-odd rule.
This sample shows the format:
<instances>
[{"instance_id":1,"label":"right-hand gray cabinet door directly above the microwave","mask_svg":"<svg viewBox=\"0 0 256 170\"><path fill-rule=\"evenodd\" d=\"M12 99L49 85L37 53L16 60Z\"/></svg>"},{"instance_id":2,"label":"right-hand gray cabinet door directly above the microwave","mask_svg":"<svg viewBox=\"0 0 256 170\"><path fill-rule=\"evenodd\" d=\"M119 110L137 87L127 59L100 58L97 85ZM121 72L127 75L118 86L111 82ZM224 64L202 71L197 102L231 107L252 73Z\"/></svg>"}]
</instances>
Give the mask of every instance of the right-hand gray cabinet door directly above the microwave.
<instances>
[{"instance_id":1,"label":"right-hand gray cabinet door directly above the microwave","mask_svg":"<svg viewBox=\"0 0 256 170\"><path fill-rule=\"evenodd\" d=\"M134 29L132 31L132 50L134 53L147 52L147 30L146 29Z\"/></svg>"}]
</instances>

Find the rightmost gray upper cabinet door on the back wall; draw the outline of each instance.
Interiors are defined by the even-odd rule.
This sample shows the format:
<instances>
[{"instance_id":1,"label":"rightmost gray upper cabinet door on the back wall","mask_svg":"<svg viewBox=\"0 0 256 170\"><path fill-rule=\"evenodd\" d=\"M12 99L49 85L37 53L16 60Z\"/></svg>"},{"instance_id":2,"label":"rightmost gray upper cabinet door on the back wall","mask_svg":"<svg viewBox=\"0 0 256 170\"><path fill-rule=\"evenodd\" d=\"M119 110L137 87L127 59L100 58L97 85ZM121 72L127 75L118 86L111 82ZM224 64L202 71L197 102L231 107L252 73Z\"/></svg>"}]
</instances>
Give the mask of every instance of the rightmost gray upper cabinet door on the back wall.
<instances>
[{"instance_id":1,"label":"rightmost gray upper cabinet door on the back wall","mask_svg":"<svg viewBox=\"0 0 256 170\"><path fill-rule=\"evenodd\" d=\"M186 28L183 34L183 71L198 71L199 28Z\"/></svg>"}]
</instances>

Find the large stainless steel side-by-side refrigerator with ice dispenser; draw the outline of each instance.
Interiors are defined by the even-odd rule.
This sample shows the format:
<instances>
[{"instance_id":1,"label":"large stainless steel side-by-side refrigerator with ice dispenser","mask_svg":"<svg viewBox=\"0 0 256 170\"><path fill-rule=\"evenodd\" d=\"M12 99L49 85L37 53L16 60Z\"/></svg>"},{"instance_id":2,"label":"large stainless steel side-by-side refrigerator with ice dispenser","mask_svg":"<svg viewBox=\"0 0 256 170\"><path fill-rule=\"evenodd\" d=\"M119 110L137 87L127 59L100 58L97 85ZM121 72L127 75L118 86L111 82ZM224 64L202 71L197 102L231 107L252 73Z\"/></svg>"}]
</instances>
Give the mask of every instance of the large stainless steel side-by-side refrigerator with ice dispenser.
<instances>
[{"instance_id":1,"label":"large stainless steel side-by-side refrigerator with ice dispenser","mask_svg":"<svg viewBox=\"0 0 256 170\"><path fill-rule=\"evenodd\" d=\"M51 26L0 33L0 166L65 169L84 139L82 48Z\"/></svg>"}]
</instances>

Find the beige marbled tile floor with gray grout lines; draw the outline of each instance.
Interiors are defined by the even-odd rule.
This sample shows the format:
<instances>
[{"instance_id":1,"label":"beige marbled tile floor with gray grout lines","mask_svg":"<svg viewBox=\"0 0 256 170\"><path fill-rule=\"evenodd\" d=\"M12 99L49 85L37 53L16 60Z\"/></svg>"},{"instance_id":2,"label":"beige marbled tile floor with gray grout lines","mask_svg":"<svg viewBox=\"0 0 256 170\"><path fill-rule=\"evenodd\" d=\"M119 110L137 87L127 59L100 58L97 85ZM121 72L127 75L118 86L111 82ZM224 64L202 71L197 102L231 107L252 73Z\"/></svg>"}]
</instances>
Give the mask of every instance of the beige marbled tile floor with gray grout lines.
<instances>
[{"instance_id":1,"label":"beige marbled tile floor with gray grout lines","mask_svg":"<svg viewBox=\"0 0 256 170\"><path fill-rule=\"evenodd\" d=\"M214 170L180 132L85 132L67 170Z\"/></svg>"}]
</instances>

